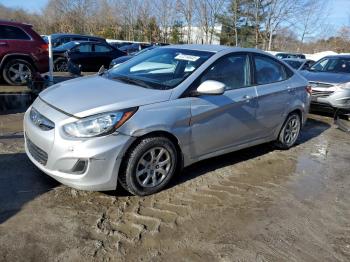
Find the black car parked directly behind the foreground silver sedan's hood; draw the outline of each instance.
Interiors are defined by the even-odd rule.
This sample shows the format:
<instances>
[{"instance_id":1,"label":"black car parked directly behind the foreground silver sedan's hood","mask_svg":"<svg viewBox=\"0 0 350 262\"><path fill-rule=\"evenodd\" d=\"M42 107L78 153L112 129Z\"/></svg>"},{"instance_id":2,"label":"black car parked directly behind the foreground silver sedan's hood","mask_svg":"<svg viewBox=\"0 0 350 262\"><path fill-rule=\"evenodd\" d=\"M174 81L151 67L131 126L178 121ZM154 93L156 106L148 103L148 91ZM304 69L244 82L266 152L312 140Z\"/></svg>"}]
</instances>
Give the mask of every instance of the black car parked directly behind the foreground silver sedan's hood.
<instances>
[{"instance_id":1,"label":"black car parked directly behind the foreground silver sedan's hood","mask_svg":"<svg viewBox=\"0 0 350 262\"><path fill-rule=\"evenodd\" d=\"M101 66L109 67L111 61L124 56L125 52L106 42L80 42L64 53L73 64L79 65L82 71L96 72Z\"/></svg>"}]
</instances>

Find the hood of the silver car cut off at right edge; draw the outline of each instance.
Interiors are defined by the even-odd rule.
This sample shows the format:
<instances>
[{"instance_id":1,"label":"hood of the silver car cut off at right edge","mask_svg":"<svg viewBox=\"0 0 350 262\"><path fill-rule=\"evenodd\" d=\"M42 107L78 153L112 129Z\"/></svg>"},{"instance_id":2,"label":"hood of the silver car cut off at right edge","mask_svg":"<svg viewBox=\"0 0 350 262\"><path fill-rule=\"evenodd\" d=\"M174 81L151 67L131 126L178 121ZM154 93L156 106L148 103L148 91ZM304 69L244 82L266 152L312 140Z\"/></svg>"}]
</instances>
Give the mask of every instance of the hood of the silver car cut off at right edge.
<instances>
[{"instance_id":1,"label":"hood of the silver car cut off at right edge","mask_svg":"<svg viewBox=\"0 0 350 262\"><path fill-rule=\"evenodd\" d=\"M300 71L308 80L321 83L341 84L350 82L350 74Z\"/></svg>"}]
</instances>

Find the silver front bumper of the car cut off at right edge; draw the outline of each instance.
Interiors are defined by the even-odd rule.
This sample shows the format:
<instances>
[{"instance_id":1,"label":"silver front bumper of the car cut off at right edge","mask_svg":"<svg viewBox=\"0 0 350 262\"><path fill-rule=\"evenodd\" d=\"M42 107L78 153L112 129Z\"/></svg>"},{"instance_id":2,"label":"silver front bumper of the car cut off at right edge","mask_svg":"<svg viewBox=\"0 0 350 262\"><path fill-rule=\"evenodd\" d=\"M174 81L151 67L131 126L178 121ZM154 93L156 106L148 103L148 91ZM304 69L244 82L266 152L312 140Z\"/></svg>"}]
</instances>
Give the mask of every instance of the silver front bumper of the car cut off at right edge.
<instances>
[{"instance_id":1,"label":"silver front bumper of the car cut off at right edge","mask_svg":"<svg viewBox=\"0 0 350 262\"><path fill-rule=\"evenodd\" d=\"M350 90L338 89L329 95L312 95L311 103L319 106L350 109Z\"/></svg>"}]
</instances>

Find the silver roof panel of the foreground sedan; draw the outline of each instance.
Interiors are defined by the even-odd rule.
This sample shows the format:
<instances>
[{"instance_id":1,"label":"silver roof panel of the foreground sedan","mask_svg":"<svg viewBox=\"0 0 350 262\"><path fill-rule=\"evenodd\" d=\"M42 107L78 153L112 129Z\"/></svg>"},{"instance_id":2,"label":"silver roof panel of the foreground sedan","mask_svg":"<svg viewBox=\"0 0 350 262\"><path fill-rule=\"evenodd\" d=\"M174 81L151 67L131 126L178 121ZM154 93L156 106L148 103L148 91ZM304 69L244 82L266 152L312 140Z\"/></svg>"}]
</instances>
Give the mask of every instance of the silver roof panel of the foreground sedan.
<instances>
[{"instance_id":1,"label":"silver roof panel of the foreground sedan","mask_svg":"<svg viewBox=\"0 0 350 262\"><path fill-rule=\"evenodd\" d=\"M214 53L231 50L232 52L254 52L254 53L270 55L269 53L266 53L260 49L233 47L233 46L226 46L226 45L184 44L184 45L167 45L167 46L162 46L160 48L188 49L188 50L207 51L207 52L214 52Z\"/></svg>"}]
</instances>

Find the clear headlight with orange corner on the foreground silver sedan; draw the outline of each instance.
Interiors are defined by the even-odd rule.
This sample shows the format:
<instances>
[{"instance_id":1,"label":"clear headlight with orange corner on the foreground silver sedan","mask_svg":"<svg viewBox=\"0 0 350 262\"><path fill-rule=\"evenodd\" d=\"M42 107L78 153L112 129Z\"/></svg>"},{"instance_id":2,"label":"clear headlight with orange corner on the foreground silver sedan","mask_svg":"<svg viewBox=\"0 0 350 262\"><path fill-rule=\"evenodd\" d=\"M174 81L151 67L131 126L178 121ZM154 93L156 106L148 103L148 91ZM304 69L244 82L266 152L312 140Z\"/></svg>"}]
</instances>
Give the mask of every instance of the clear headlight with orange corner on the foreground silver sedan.
<instances>
[{"instance_id":1,"label":"clear headlight with orange corner on the foreground silver sedan","mask_svg":"<svg viewBox=\"0 0 350 262\"><path fill-rule=\"evenodd\" d=\"M83 118L63 126L64 132L72 137L95 137L114 132L124 124L135 112L128 111L105 113Z\"/></svg>"}]
</instances>

